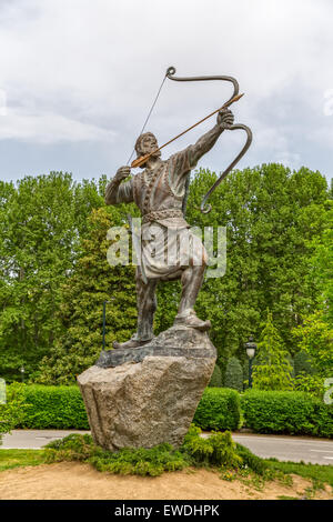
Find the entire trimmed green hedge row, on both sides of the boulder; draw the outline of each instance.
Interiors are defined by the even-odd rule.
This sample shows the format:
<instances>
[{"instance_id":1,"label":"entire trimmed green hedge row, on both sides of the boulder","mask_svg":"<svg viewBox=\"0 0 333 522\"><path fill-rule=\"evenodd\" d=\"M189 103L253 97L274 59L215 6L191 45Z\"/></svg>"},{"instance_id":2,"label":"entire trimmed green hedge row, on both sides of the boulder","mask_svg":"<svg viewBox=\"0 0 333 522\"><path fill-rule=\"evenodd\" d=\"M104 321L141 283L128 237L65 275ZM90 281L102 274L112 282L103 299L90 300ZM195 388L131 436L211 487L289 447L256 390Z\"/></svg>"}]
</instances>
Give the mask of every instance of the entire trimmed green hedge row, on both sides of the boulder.
<instances>
[{"instance_id":1,"label":"entire trimmed green hedge row, on both sides of the boulder","mask_svg":"<svg viewBox=\"0 0 333 522\"><path fill-rule=\"evenodd\" d=\"M26 385L31 404L20 428L89 430L77 385ZM302 392L206 388L193 421L203 430L236 430L241 418L258 433L289 433L333 438L333 405Z\"/></svg>"}]
</instances>

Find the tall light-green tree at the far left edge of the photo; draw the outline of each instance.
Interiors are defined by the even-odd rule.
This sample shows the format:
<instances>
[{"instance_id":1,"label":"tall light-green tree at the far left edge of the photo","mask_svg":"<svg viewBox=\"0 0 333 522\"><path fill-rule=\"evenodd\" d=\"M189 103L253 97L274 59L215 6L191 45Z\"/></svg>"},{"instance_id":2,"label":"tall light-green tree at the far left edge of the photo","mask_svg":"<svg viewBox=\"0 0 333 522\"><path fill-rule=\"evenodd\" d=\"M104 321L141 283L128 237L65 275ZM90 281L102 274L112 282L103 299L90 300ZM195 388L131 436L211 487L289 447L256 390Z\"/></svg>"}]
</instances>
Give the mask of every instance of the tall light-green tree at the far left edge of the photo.
<instances>
[{"instance_id":1,"label":"tall light-green tree at the far left edge of the photo","mask_svg":"<svg viewBox=\"0 0 333 522\"><path fill-rule=\"evenodd\" d=\"M31 377L62 333L61 284L73 272L87 215L103 203L93 181L71 174L0 184L0 374Z\"/></svg>"}]
</instances>

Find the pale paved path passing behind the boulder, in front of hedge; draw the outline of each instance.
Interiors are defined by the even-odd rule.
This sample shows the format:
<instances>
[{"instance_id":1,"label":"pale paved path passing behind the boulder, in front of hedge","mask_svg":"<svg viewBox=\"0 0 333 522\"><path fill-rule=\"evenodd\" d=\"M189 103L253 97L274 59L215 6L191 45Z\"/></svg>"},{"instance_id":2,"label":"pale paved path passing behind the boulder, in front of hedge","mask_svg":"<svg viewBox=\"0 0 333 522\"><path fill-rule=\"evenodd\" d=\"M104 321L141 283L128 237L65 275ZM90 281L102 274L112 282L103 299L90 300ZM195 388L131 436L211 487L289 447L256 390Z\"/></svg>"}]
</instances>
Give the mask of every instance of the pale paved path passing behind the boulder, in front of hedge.
<instances>
[{"instance_id":1,"label":"pale paved path passing behind the boulder, in front of hedge","mask_svg":"<svg viewBox=\"0 0 333 522\"><path fill-rule=\"evenodd\" d=\"M70 433L89 433L75 430L13 430L3 436L2 449L40 449L48 442ZM205 433L203 436L208 436ZM282 461L333 464L333 441L285 436L234 433L233 440L249 448L259 456L275 456Z\"/></svg>"}]
</instances>

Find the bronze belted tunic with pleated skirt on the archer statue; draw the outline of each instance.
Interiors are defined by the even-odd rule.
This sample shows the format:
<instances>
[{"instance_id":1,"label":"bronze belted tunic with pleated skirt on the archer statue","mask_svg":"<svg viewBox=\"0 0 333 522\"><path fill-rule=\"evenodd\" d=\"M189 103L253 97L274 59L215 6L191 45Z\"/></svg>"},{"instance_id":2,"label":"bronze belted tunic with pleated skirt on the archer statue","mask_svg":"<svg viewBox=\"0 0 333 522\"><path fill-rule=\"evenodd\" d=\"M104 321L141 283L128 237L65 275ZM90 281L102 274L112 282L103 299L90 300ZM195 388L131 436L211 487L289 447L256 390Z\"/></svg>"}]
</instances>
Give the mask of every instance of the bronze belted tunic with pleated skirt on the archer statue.
<instances>
[{"instance_id":1,"label":"bronze belted tunic with pleated skirt on the archer statue","mask_svg":"<svg viewBox=\"0 0 333 522\"><path fill-rule=\"evenodd\" d=\"M196 162L193 145L145 169L118 188L115 203L135 202L142 214L141 265L148 279L168 278L181 267L206 264L206 252L182 213L186 177ZM107 187L107 201L114 191Z\"/></svg>"}]
</instances>

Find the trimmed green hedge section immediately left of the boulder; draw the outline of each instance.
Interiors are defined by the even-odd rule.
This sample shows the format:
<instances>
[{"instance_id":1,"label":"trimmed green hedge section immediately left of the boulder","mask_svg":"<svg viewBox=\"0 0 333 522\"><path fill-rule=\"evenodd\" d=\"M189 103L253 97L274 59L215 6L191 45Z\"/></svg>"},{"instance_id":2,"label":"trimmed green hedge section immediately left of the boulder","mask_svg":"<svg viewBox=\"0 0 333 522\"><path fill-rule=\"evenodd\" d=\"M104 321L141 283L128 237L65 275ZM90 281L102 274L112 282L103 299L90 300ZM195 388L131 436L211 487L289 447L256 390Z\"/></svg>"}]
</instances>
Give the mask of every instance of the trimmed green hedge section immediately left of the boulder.
<instances>
[{"instance_id":1,"label":"trimmed green hedge section immediately left of the boulder","mask_svg":"<svg viewBox=\"0 0 333 522\"><path fill-rule=\"evenodd\" d=\"M21 428L33 430L89 430L89 423L79 387L26 387L26 401L31 404Z\"/></svg>"}]
</instances>

